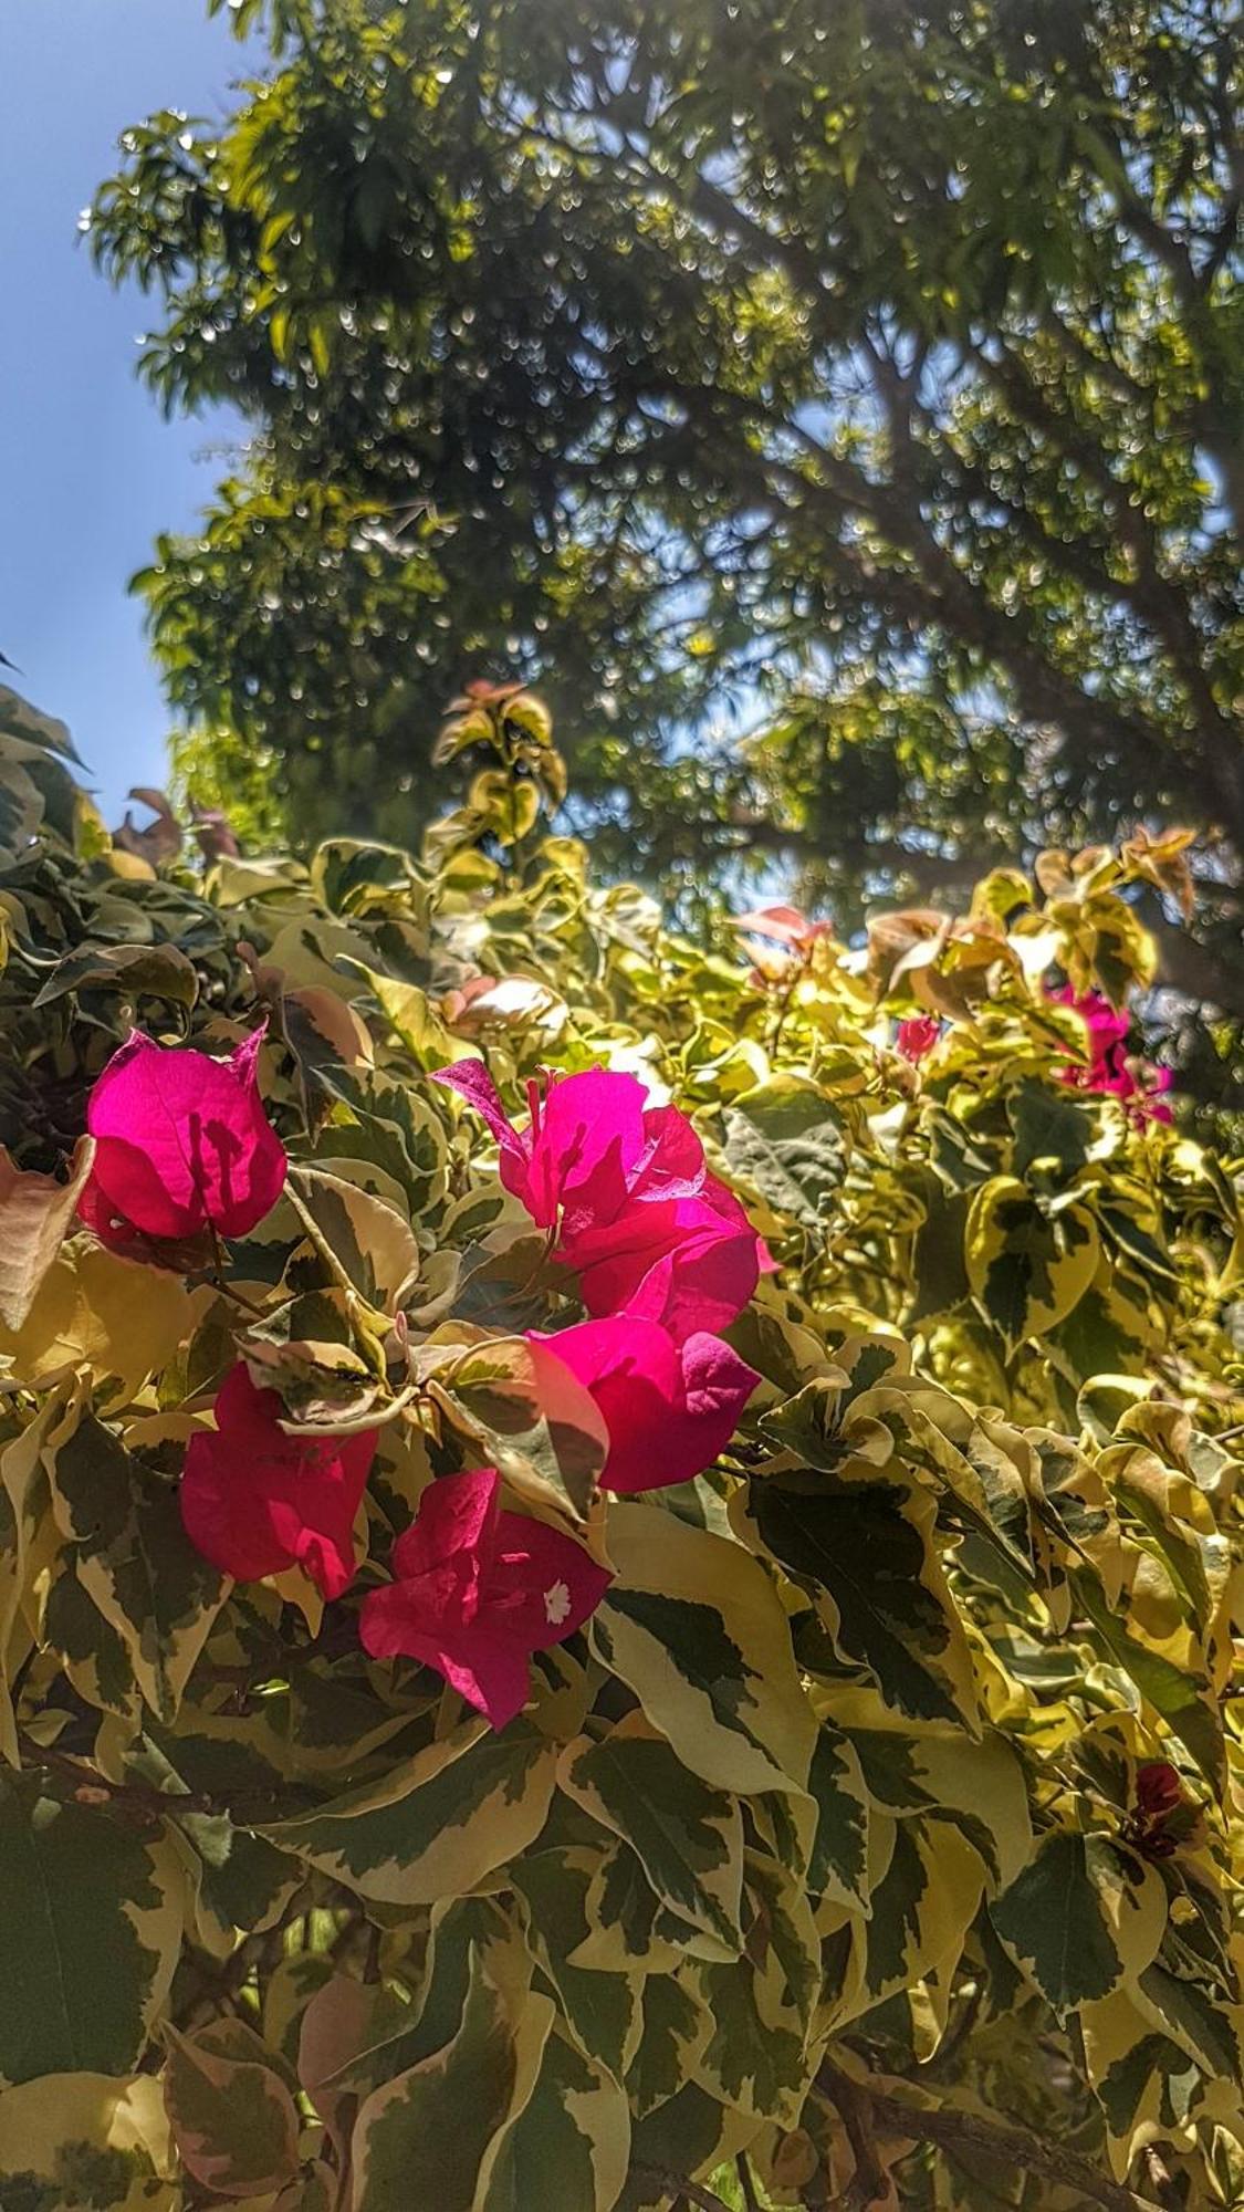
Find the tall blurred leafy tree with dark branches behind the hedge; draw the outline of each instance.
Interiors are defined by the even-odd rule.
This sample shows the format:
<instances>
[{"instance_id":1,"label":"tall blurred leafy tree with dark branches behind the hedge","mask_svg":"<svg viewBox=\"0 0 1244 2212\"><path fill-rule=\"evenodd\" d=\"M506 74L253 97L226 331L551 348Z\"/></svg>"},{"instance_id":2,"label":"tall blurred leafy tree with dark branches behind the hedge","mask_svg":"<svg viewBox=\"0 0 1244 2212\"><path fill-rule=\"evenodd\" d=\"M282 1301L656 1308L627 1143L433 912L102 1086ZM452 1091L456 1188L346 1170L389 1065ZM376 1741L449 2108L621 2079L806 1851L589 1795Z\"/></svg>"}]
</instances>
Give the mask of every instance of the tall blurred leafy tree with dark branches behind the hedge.
<instances>
[{"instance_id":1,"label":"tall blurred leafy tree with dark branches behind the hedge","mask_svg":"<svg viewBox=\"0 0 1244 2212\"><path fill-rule=\"evenodd\" d=\"M1147 920L1237 1099L1240 4L208 4L266 82L91 217L162 403L252 425L139 580L184 781L407 838L518 672L666 889L850 925L1189 823Z\"/></svg>"}]
</instances>

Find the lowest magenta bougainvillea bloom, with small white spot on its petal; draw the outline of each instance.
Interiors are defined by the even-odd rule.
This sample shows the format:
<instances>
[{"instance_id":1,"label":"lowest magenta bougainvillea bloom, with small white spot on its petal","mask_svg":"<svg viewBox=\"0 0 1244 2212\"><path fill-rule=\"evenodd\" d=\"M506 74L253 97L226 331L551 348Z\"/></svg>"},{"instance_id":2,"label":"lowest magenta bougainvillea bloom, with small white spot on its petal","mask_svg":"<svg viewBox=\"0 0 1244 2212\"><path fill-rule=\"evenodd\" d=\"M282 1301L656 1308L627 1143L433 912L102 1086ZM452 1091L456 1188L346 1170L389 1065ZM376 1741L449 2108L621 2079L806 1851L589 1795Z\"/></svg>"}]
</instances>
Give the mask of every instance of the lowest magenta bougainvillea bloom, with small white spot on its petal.
<instances>
[{"instance_id":1,"label":"lowest magenta bougainvillea bloom, with small white spot on its petal","mask_svg":"<svg viewBox=\"0 0 1244 2212\"><path fill-rule=\"evenodd\" d=\"M363 1599L359 1632L374 1659L434 1666L505 1728L527 1703L531 1652L582 1628L613 1577L560 1528L498 1500L494 1467L429 1482L394 1544L394 1582Z\"/></svg>"}]
</instances>

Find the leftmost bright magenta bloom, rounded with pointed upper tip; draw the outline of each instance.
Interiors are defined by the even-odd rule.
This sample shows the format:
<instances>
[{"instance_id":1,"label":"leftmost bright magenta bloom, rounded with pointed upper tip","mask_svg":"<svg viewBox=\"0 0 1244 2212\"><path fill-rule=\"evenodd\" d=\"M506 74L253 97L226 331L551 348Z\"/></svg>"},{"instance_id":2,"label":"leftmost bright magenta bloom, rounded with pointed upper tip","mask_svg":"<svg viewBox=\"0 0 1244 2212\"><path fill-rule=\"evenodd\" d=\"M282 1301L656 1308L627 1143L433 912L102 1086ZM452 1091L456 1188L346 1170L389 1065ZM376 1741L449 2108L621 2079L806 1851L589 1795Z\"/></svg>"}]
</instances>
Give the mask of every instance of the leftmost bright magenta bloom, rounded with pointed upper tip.
<instances>
[{"instance_id":1,"label":"leftmost bright magenta bloom, rounded with pointed upper tip","mask_svg":"<svg viewBox=\"0 0 1244 2212\"><path fill-rule=\"evenodd\" d=\"M122 1221L142 1237L188 1239L210 1225L246 1237L272 1212L286 1148L259 1097L261 1044L257 1029L230 1060L210 1060L133 1031L86 1102L91 1228Z\"/></svg>"}]
</instances>

